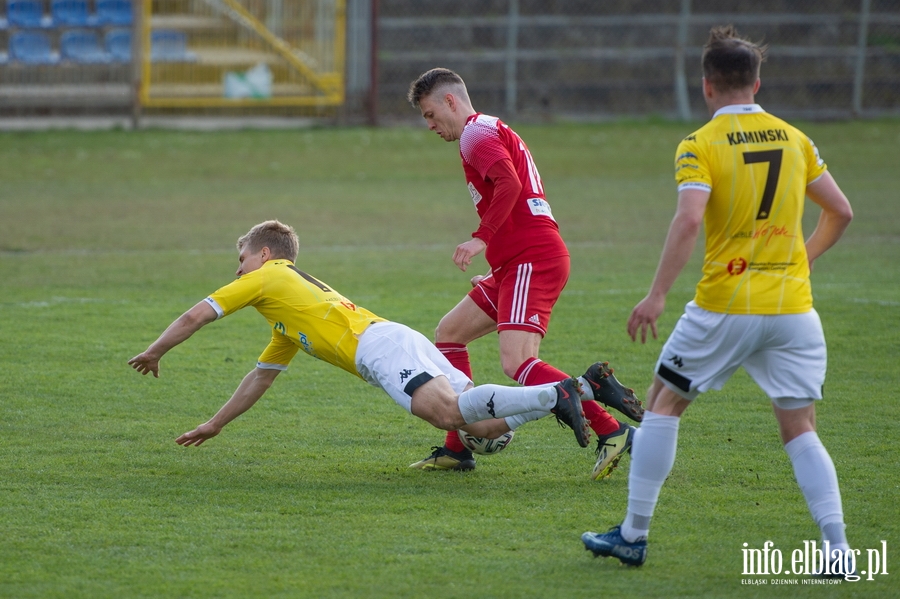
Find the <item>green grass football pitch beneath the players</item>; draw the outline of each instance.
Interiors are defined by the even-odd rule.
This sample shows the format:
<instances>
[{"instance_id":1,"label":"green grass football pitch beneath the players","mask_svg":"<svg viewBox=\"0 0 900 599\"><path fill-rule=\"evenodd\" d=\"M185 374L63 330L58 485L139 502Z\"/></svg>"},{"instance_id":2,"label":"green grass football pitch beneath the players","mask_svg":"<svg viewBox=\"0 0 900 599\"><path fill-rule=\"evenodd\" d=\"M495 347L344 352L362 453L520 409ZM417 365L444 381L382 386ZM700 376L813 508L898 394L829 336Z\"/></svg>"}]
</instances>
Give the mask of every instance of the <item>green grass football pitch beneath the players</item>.
<instances>
[{"instance_id":1,"label":"green grass football pitch beneath the players","mask_svg":"<svg viewBox=\"0 0 900 599\"><path fill-rule=\"evenodd\" d=\"M744 543L771 540L787 562L818 540L743 372L683 419L639 569L592 559L579 540L621 520L628 459L592 482L593 453L552 419L474 472L411 471L443 434L298 356L219 437L179 447L254 366L265 321L245 311L210 325L158 380L126 362L231 280L234 241L261 220L297 228L301 268L431 335L471 274L450 260L476 227L456 145L424 128L5 133L0 597L900 596L900 121L799 125L856 212L813 278L830 350L819 434L850 541L863 557L886 541L888 575L742 584ZM518 127L573 259L548 362L580 374L609 360L626 384L649 385L661 340L632 343L625 323L674 211L675 146L695 126ZM471 352L477 381L512 384L496 339Z\"/></svg>"}]
</instances>

